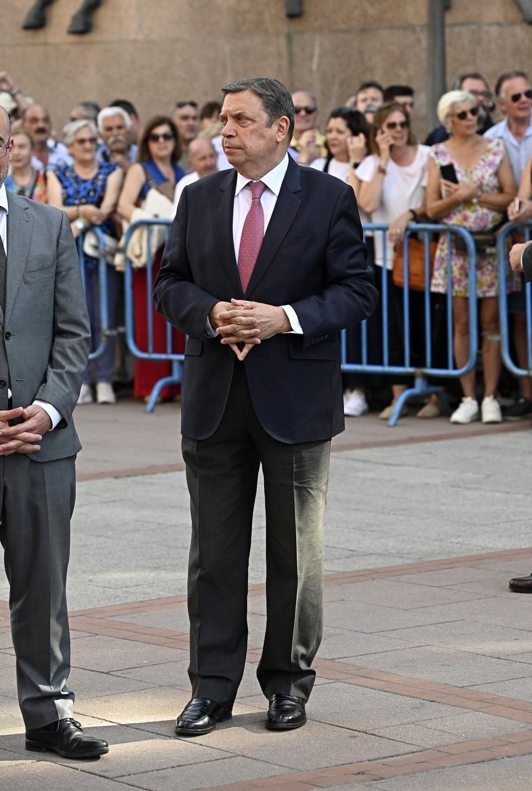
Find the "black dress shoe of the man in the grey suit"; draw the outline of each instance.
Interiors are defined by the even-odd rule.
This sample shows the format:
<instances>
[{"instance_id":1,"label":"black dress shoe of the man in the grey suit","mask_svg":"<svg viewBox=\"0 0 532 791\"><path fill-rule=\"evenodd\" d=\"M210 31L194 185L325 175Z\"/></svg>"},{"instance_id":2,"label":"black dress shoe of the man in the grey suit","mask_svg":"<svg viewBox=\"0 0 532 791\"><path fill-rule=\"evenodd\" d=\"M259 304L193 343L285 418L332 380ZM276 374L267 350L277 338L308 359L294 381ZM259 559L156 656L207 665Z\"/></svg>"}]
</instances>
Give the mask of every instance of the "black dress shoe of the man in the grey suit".
<instances>
[{"instance_id":1,"label":"black dress shoe of the man in the grey suit","mask_svg":"<svg viewBox=\"0 0 532 791\"><path fill-rule=\"evenodd\" d=\"M63 758L97 758L108 753L109 745L103 739L86 736L79 722L68 717L44 728L26 731L26 750L51 750Z\"/></svg>"}]
</instances>

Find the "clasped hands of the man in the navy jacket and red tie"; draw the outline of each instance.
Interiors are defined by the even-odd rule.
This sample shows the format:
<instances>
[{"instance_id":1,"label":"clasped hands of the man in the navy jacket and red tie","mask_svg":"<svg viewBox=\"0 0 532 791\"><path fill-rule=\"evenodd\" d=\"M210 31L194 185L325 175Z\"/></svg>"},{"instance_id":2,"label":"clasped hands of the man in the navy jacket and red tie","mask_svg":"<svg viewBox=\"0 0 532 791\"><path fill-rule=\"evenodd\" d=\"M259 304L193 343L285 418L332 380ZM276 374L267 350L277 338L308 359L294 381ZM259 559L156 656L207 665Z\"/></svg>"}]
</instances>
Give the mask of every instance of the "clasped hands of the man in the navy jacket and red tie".
<instances>
[{"instance_id":1,"label":"clasped hands of the man in the navy jacket and red tie","mask_svg":"<svg viewBox=\"0 0 532 791\"><path fill-rule=\"evenodd\" d=\"M222 344L230 346L241 362L253 346L292 328L283 308L243 299L217 302L211 308L209 321L222 336ZM239 348L239 343L244 346Z\"/></svg>"}]
</instances>

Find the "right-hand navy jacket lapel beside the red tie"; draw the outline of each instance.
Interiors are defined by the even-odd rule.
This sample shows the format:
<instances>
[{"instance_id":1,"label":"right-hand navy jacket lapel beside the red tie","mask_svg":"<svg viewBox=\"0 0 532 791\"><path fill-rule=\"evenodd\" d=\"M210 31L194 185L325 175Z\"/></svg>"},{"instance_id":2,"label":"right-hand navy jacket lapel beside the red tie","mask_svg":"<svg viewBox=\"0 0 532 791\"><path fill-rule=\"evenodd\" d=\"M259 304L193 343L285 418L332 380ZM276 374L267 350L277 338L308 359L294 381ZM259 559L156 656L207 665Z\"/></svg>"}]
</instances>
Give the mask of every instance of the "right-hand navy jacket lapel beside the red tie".
<instances>
[{"instance_id":1,"label":"right-hand navy jacket lapel beside the red tie","mask_svg":"<svg viewBox=\"0 0 532 791\"><path fill-rule=\"evenodd\" d=\"M295 215L298 213L301 201L295 193L299 191L301 191L299 165L288 155L287 172L279 191L276 207L268 222L266 233L264 233L264 240L260 247L257 263L253 269L251 278L249 278L248 288L245 291L246 299L251 296L253 289L258 285L260 278L262 278L272 263L273 257L279 249L279 244L281 244L284 237L286 237L295 219Z\"/></svg>"}]
</instances>

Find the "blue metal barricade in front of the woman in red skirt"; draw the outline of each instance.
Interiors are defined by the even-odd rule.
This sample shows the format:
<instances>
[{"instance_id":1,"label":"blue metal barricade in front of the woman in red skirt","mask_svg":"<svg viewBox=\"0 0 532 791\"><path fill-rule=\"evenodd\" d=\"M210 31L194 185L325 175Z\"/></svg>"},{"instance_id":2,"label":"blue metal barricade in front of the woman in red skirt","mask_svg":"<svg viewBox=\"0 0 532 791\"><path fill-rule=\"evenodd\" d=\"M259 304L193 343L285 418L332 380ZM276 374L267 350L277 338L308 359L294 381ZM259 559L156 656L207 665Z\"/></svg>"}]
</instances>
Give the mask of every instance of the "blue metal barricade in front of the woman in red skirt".
<instances>
[{"instance_id":1,"label":"blue metal barricade in front of the woman in red skirt","mask_svg":"<svg viewBox=\"0 0 532 791\"><path fill-rule=\"evenodd\" d=\"M169 377L164 377L158 380L150 393L150 398L146 404L146 412L151 412L155 408L159 395L163 388L168 385L180 384L181 373L183 370L184 354L178 353L173 349L173 327L168 322L165 322L165 350L155 350L154 348L154 315L155 305L152 299L154 287L154 255L157 248L154 247L154 240L152 240L151 229L164 229L165 238L168 237L170 225L172 220L161 218L146 219L132 222L127 229L126 237L124 240L124 249L127 252L133 233L137 229L146 229L146 267L142 267L142 274L146 277L146 327L147 327L147 344L146 349L140 349L135 338L135 297L133 292L133 271L134 267L131 260L126 255L125 271L124 271L124 288L125 288L125 314L126 314L126 342L127 348L131 354L139 360L158 360L167 361L171 365L172 373ZM160 246L160 245L158 245Z\"/></svg>"}]
</instances>

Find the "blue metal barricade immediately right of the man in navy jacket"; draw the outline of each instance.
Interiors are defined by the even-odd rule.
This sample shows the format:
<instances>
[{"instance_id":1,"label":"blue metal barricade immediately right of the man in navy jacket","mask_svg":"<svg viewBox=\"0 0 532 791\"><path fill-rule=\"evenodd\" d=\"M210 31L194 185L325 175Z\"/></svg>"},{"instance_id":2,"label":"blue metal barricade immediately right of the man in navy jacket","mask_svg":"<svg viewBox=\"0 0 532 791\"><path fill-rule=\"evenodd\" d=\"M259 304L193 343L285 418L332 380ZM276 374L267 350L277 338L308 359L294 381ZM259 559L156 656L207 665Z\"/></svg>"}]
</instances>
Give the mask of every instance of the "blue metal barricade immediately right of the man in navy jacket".
<instances>
[{"instance_id":1,"label":"blue metal barricade immediately right of the man in navy jacket","mask_svg":"<svg viewBox=\"0 0 532 791\"><path fill-rule=\"evenodd\" d=\"M371 232L374 237L375 234L381 234L382 238L382 254L383 254L383 273L386 271L386 233L388 225L384 223L367 223L363 226L364 233ZM424 254L425 254L425 288L424 288L424 335L425 335L425 365L416 368L411 365L410 361L410 293L408 288L403 289L403 345L404 345L404 365L390 365L390 350L389 350L389 300L390 294L388 293L387 277L383 274L382 277L382 293L380 299L380 311L382 314L382 364L371 365L367 361L367 322L364 321L361 326L361 362L352 363L347 360L347 331L343 331L341 335L342 344L342 370L345 373L383 373L383 374L396 374L397 376L413 376L414 385L412 388L407 389L401 394L397 403L393 407L390 416L389 425L395 426L397 420L401 415L401 410L412 395L424 395L430 392L436 392L438 388L434 385L428 384L428 377L463 377L466 373L473 370L477 361L477 255L475 244L471 234L457 225L436 225L431 223L418 223L409 225L406 229L404 236L404 282L409 282L409 247L408 240L411 233L416 233L423 237L424 240ZM447 235L447 368L434 368L432 366L432 349L431 349L431 292L430 292L430 271L431 262L429 260L429 240L432 233L438 233L440 236ZM461 237L467 248L467 255L469 259L469 359L466 365L462 368L456 368L454 365L453 354L453 280L452 280L452 267L451 267L451 249L450 239L452 237ZM377 237L376 239L377 240ZM379 307L377 308L379 310Z\"/></svg>"}]
</instances>

